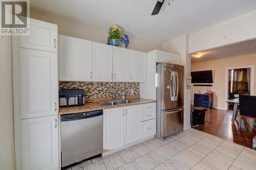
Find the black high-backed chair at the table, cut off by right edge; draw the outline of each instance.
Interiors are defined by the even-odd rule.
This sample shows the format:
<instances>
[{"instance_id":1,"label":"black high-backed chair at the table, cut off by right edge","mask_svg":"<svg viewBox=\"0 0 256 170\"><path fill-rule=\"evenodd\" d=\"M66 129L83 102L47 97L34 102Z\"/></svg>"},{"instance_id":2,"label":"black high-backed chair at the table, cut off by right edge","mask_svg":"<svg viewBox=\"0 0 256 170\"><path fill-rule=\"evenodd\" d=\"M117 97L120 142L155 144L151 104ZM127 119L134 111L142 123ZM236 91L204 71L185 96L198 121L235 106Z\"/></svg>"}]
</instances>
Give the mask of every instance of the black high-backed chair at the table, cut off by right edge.
<instances>
[{"instance_id":1,"label":"black high-backed chair at the table, cut off by right edge","mask_svg":"<svg viewBox=\"0 0 256 170\"><path fill-rule=\"evenodd\" d=\"M254 95L239 95L239 107L240 107L240 125L242 117L256 119L256 96Z\"/></svg>"}]
</instances>

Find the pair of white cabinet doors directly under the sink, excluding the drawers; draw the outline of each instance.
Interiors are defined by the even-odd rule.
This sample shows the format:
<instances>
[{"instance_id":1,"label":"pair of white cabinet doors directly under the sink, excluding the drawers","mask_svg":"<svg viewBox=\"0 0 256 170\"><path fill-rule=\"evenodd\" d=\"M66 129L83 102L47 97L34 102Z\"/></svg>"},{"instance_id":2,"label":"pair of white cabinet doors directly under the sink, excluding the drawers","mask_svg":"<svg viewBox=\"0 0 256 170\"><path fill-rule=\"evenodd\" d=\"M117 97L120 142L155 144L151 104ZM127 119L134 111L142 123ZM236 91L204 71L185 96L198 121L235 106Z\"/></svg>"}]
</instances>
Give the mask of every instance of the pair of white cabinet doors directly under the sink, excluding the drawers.
<instances>
[{"instance_id":1,"label":"pair of white cabinet doors directly under the sink, excluding the drawers","mask_svg":"<svg viewBox=\"0 0 256 170\"><path fill-rule=\"evenodd\" d=\"M103 111L103 149L114 150L141 139L139 106Z\"/></svg>"}]
</instances>

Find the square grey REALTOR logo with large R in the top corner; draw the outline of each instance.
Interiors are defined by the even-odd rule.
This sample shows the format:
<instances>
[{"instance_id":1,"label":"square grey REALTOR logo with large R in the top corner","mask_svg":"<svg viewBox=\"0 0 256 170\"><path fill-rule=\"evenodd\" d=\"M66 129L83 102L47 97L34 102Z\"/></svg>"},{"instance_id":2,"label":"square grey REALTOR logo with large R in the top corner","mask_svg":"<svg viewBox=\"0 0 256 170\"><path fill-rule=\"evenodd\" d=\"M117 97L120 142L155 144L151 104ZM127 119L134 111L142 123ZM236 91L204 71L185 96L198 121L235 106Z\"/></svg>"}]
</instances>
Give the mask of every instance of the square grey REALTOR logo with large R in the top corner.
<instances>
[{"instance_id":1,"label":"square grey REALTOR logo with large R in the top corner","mask_svg":"<svg viewBox=\"0 0 256 170\"><path fill-rule=\"evenodd\" d=\"M29 35L29 1L1 1L1 35Z\"/></svg>"}]
</instances>

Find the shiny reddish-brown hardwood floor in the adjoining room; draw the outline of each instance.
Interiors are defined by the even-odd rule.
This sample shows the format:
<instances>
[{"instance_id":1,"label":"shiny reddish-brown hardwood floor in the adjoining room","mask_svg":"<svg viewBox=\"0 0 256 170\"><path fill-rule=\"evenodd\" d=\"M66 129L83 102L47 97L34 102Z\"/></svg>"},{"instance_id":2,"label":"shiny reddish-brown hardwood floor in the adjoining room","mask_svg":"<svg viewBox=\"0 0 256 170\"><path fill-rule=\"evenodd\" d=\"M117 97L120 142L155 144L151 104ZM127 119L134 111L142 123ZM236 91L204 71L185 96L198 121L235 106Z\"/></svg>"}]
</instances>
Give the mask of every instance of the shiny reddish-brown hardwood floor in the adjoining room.
<instances>
[{"instance_id":1,"label":"shiny reddish-brown hardwood floor in the adjoining room","mask_svg":"<svg viewBox=\"0 0 256 170\"><path fill-rule=\"evenodd\" d=\"M242 121L241 129L239 129L239 117L238 113L232 126L232 110L209 109L205 114L205 124L193 128L252 148L252 139L256 135L254 120L247 118L246 126Z\"/></svg>"}]
</instances>

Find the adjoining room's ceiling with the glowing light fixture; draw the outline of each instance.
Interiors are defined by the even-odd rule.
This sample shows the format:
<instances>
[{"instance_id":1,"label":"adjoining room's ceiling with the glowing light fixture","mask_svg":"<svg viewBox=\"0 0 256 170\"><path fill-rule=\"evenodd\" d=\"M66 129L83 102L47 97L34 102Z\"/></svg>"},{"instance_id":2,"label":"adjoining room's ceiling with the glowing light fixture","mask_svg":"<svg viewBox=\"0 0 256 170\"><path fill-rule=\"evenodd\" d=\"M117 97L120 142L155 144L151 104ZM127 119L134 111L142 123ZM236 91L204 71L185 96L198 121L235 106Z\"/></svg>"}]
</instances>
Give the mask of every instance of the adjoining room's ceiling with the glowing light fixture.
<instances>
[{"instance_id":1,"label":"adjoining room's ceiling with the glowing light fixture","mask_svg":"<svg viewBox=\"0 0 256 170\"><path fill-rule=\"evenodd\" d=\"M236 57L247 54L256 54L256 39L240 42L237 44L222 46L211 50L206 50L200 53L204 54L200 58L195 58L191 56L191 63L217 60L227 57Z\"/></svg>"}]
</instances>

